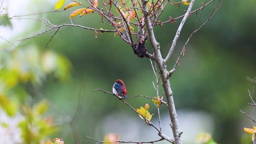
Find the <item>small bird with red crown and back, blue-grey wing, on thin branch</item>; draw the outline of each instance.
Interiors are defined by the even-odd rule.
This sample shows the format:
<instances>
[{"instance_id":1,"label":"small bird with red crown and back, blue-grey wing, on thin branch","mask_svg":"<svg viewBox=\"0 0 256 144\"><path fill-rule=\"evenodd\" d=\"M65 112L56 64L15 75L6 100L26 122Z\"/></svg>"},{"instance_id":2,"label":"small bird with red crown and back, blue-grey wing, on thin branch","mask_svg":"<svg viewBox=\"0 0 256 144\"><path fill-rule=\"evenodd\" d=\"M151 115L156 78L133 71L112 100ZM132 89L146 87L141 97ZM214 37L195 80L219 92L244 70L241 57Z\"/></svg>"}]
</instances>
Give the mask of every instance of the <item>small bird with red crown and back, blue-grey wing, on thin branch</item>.
<instances>
[{"instance_id":1,"label":"small bird with red crown and back, blue-grey wing, on thin branch","mask_svg":"<svg viewBox=\"0 0 256 144\"><path fill-rule=\"evenodd\" d=\"M116 80L113 85L113 93L121 98L126 99L127 92L122 80Z\"/></svg>"}]
</instances>

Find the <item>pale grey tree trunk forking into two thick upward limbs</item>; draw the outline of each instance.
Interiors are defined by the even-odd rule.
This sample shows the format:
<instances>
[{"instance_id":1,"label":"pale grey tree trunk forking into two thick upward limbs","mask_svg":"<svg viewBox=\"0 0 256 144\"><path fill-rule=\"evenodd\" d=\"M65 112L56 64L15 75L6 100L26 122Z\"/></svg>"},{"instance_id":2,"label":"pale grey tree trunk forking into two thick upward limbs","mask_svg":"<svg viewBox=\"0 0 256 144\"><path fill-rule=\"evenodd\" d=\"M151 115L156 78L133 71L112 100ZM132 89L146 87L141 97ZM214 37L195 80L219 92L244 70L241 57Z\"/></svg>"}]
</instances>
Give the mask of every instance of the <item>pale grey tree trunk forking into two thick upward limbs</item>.
<instances>
[{"instance_id":1,"label":"pale grey tree trunk forking into two thick upward limbs","mask_svg":"<svg viewBox=\"0 0 256 144\"><path fill-rule=\"evenodd\" d=\"M147 26L147 36L149 37L150 44L153 47L155 61L158 65L158 68L160 71L160 75L161 75L161 79L162 79L162 86L164 88L165 96L167 99L167 107L168 107L168 111L170 114L171 128L173 130L173 137L175 140L175 144L182 144L182 140L180 137L181 132L180 132L180 128L179 128L178 117L176 114L174 100L173 100L173 91L171 90L171 85L170 85L170 81L169 81L170 75L171 75L171 73L173 73L175 71L175 69L171 70L170 72L167 71L166 63L171 57L171 54L174 50L177 39L179 38L180 31L182 30L182 27L183 27L186 19L188 18L189 13L191 12L194 1L195 0L191 0L191 4L189 5L188 10L187 10L185 16L183 17L183 20L177 30L176 36L174 37L173 44L170 48L170 51L169 51L167 57L165 59L163 59L162 55L161 55L161 51L160 51L160 44L156 41L153 27L150 22L149 11L147 9L147 0L141 0L143 16L145 19L145 24Z\"/></svg>"}]
</instances>

